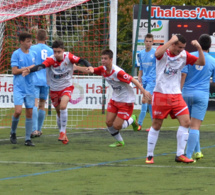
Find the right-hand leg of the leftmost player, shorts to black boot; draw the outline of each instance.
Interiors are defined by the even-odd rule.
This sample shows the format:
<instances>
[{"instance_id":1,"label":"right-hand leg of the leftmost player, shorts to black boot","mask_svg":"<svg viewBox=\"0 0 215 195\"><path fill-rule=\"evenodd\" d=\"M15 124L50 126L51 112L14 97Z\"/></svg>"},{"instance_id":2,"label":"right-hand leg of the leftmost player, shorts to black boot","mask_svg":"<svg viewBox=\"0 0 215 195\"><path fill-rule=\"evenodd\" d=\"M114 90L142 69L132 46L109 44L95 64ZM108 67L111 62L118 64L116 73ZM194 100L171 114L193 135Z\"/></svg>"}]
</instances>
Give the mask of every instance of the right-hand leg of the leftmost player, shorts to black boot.
<instances>
[{"instance_id":1,"label":"right-hand leg of the leftmost player, shorts to black boot","mask_svg":"<svg viewBox=\"0 0 215 195\"><path fill-rule=\"evenodd\" d=\"M24 98L26 108L26 119L25 119L25 145L34 146L31 142L31 133L33 128L32 112L35 103L34 94L26 95Z\"/></svg>"}]
</instances>

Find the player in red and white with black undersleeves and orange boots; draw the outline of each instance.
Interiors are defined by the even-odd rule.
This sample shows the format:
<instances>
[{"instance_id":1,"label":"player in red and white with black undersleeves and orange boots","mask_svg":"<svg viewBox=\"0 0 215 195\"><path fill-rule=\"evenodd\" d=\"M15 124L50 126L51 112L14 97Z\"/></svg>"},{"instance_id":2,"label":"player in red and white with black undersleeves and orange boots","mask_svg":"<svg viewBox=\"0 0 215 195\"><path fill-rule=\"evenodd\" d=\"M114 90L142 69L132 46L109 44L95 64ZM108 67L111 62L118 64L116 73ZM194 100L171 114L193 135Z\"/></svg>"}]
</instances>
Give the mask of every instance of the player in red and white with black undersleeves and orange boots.
<instances>
[{"instance_id":1,"label":"player in red and white with black undersleeves and orange boots","mask_svg":"<svg viewBox=\"0 0 215 195\"><path fill-rule=\"evenodd\" d=\"M31 72L46 68L47 84L50 87L50 97L57 112L57 124L58 127L60 127L58 141L67 144L69 142L66 135L68 119L67 104L71 99L74 89L72 85L73 63L80 63L87 67L91 66L91 64L87 60L81 59L70 52L65 52L64 43L62 41L54 41L52 49L54 55L48 57L42 64L24 70L22 75L26 76Z\"/></svg>"}]
</instances>

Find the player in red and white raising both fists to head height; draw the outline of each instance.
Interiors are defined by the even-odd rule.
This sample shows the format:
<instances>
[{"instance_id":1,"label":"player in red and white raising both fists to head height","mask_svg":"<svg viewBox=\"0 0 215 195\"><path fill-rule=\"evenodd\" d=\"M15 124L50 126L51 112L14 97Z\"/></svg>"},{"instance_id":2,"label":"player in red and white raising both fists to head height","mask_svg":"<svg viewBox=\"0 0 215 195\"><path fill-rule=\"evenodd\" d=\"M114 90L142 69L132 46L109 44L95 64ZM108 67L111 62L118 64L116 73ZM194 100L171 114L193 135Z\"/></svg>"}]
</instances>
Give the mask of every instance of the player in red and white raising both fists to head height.
<instances>
[{"instance_id":1,"label":"player in red and white raising both fists to head height","mask_svg":"<svg viewBox=\"0 0 215 195\"><path fill-rule=\"evenodd\" d=\"M187 65L204 65L205 59L201 46L193 40L199 53L199 58L185 51L186 40L182 35L173 35L164 45L158 47L156 57L156 85L153 92L152 110L153 121L148 133L147 164L154 163L154 149L163 120L170 114L177 118L179 128L177 131L176 162L191 163L192 159L184 155L190 125L189 110L181 95L181 70Z\"/></svg>"}]
</instances>

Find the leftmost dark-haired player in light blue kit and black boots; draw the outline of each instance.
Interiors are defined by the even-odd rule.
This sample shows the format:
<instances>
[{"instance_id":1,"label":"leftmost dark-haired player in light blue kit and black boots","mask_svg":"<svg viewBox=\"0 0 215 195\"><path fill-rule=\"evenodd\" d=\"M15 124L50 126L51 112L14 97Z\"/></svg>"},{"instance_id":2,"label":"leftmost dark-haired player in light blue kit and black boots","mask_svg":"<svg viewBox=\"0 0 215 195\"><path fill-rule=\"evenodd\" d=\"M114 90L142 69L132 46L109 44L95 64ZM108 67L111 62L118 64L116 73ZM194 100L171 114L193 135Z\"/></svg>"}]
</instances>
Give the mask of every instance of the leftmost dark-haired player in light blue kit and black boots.
<instances>
[{"instance_id":1,"label":"leftmost dark-haired player in light blue kit and black boots","mask_svg":"<svg viewBox=\"0 0 215 195\"><path fill-rule=\"evenodd\" d=\"M25 104L26 120L25 120L25 145L34 146L31 142L32 132L32 109L34 107L34 85L32 75L25 78L22 77L23 70L35 64L36 53L30 50L32 45L31 34L22 32L19 35L20 48L13 52L11 57L11 67L13 77L13 100L15 112L12 117L12 125L10 131L10 141L12 144L17 143L16 129L19 123L19 117L22 113L22 105Z\"/></svg>"}]
</instances>

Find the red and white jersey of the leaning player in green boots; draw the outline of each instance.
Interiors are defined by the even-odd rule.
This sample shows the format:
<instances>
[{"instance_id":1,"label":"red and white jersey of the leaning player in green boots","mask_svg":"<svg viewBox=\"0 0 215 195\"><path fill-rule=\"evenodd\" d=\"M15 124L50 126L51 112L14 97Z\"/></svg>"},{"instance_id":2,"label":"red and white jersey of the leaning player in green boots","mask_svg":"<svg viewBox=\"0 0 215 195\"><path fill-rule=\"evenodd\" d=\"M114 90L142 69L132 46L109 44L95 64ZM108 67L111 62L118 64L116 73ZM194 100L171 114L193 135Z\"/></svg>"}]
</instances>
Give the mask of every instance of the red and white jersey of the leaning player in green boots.
<instances>
[{"instance_id":1,"label":"red and white jersey of the leaning player in green boots","mask_svg":"<svg viewBox=\"0 0 215 195\"><path fill-rule=\"evenodd\" d=\"M132 76L117 65L112 65L108 74L105 66L94 68L94 74L102 75L113 89L112 100L116 102L134 103L135 94L131 85Z\"/></svg>"}]
</instances>

